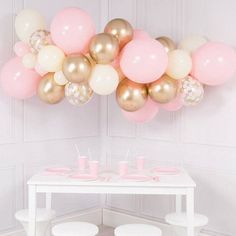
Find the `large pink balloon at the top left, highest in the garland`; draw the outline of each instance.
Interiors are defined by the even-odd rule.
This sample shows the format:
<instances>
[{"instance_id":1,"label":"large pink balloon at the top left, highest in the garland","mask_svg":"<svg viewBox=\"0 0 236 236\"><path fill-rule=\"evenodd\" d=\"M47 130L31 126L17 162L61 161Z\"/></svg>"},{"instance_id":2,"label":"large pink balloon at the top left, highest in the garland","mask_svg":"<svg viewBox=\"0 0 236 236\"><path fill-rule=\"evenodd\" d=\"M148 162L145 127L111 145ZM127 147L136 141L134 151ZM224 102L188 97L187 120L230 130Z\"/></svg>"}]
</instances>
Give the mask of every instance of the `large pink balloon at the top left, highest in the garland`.
<instances>
[{"instance_id":1,"label":"large pink balloon at the top left, highest in the garland","mask_svg":"<svg viewBox=\"0 0 236 236\"><path fill-rule=\"evenodd\" d=\"M86 51L94 34L92 18L79 8L60 11L51 24L52 40L66 54Z\"/></svg>"}]
</instances>

